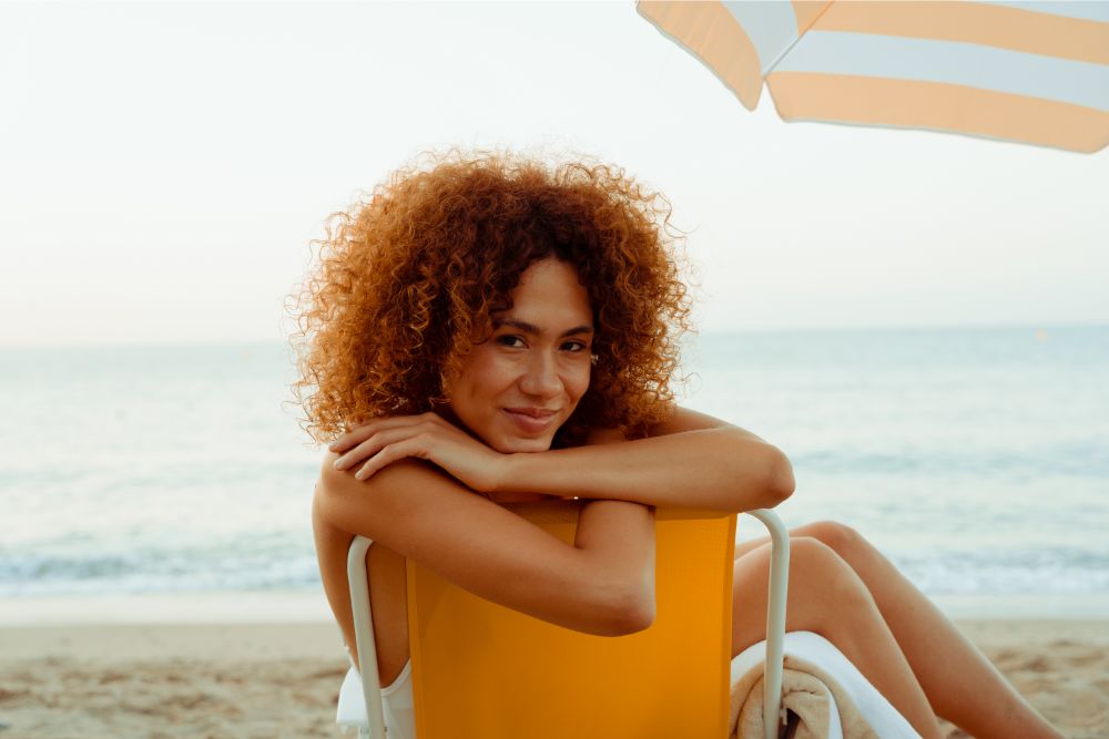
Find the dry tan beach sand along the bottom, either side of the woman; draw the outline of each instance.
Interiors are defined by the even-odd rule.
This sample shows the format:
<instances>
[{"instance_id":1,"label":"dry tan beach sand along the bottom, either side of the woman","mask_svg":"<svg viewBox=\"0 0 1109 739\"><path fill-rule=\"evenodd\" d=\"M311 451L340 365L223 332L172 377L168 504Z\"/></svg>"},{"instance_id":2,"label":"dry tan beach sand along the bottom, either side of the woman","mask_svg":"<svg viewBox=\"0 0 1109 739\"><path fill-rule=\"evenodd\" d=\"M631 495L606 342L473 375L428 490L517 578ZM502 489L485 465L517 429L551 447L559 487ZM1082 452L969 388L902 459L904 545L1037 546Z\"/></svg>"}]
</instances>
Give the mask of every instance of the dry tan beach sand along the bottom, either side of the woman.
<instances>
[{"instance_id":1,"label":"dry tan beach sand along the bottom, either side of the woman","mask_svg":"<svg viewBox=\"0 0 1109 739\"><path fill-rule=\"evenodd\" d=\"M1068 737L1109 737L1109 622L959 625ZM340 737L345 671L318 622L0 626L0 739Z\"/></svg>"}]
</instances>

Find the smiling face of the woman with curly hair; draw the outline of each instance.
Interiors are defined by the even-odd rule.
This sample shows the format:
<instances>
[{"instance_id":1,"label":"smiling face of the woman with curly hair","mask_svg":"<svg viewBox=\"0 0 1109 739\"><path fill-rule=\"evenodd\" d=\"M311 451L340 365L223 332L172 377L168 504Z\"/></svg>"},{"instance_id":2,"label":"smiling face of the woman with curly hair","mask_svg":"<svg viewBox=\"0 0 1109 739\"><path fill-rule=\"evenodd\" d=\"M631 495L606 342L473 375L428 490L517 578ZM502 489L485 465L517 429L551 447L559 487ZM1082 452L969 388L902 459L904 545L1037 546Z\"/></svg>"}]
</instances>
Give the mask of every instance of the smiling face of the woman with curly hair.
<instances>
[{"instance_id":1,"label":"smiling face of the woman with curly hair","mask_svg":"<svg viewBox=\"0 0 1109 739\"><path fill-rule=\"evenodd\" d=\"M499 452L541 452L589 388L593 312L573 267L536 261L491 316L492 335L462 358L451 411Z\"/></svg>"}]
</instances>

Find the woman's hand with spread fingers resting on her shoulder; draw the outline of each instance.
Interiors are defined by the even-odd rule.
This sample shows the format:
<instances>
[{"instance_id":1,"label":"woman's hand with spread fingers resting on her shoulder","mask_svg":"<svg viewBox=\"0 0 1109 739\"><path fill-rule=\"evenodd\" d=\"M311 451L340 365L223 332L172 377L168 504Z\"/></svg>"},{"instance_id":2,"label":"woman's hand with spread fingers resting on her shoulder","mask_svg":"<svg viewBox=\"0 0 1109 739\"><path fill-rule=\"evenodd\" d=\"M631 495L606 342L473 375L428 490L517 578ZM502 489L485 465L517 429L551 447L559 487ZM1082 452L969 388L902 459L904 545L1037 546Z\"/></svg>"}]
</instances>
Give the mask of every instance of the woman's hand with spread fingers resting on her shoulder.
<instances>
[{"instance_id":1,"label":"woman's hand with spread fingers resting on her shoulder","mask_svg":"<svg viewBox=\"0 0 1109 739\"><path fill-rule=\"evenodd\" d=\"M342 454L336 470L365 463L355 473L368 480L375 472L406 456L428 460L462 484L484 493L497 490L507 454L501 454L470 437L436 413L386 415L374 419L330 444Z\"/></svg>"}]
</instances>

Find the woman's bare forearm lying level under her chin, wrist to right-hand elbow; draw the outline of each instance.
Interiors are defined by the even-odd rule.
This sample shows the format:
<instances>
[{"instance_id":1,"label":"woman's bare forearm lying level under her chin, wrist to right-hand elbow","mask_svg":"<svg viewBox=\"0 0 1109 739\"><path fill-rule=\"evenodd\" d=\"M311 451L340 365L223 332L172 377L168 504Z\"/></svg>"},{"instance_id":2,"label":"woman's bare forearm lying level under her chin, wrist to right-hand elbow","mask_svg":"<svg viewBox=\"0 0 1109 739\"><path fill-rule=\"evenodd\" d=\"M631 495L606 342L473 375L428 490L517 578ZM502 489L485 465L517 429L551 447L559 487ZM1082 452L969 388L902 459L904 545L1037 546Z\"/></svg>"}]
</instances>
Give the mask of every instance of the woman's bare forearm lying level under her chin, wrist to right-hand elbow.
<instances>
[{"instance_id":1,"label":"woman's bare forearm lying level under her chin, wrist to right-hand elbow","mask_svg":"<svg viewBox=\"0 0 1109 739\"><path fill-rule=\"evenodd\" d=\"M506 470L506 492L712 511L770 507L794 484L781 451L734 427L513 454Z\"/></svg>"}]
</instances>

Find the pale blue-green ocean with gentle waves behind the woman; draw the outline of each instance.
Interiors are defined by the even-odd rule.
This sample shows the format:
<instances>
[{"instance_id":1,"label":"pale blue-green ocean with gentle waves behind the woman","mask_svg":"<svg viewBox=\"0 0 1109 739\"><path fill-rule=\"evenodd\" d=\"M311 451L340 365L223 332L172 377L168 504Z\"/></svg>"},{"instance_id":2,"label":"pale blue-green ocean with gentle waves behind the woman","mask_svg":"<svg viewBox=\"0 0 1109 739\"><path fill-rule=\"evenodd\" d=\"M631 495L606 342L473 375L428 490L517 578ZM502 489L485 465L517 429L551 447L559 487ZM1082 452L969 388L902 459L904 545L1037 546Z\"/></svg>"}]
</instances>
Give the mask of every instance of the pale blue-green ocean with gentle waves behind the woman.
<instances>
[{"instance_id":1,"label":"pale blue-green ocean with gentle waves behind the woman","mask_svg":"<svg viewBox=\"0 0 1109 739\"><path fill-rule=\"evenodd\" d=\"M683 403L935 596L1109 596L1109 327L704 333ZM283 345L0 350L0 598L318 592ZM741 520L740 536L760 534Z\"/></svg>"}]
</instances>

